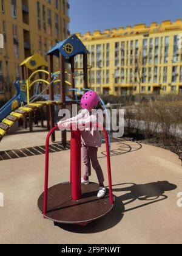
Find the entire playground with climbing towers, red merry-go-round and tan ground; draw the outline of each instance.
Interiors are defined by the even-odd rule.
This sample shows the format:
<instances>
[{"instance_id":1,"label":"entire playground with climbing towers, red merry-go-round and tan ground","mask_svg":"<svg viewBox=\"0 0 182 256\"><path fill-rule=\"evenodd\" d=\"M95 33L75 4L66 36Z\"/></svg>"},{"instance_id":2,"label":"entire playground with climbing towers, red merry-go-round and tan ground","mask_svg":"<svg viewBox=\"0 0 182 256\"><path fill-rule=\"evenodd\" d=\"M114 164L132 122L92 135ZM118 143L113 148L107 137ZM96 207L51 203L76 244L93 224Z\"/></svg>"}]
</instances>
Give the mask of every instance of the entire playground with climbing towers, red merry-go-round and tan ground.
<instances>
[{"instance_id":1,"label":"entire playground with climbing towers, red merry-go-round and tan ground","mask_svg":"<svg viewBox=\"0 0 182 256\"><path fill-rule=\"evenodd\" d=\"M75 69L77 54L82 71ZM180 243L181 161L172 152L112 138L101 127L106 196L96 197L95 173L81 185L81 134L58 131L57 113L82 105L78 95L90 91L87 54L72 35L50 49L48 63L35 54L20 65L16 95L0 109L0 243ZM75 76L83 76L83 91L75 89Z\"/></svg>"}]
</instances>

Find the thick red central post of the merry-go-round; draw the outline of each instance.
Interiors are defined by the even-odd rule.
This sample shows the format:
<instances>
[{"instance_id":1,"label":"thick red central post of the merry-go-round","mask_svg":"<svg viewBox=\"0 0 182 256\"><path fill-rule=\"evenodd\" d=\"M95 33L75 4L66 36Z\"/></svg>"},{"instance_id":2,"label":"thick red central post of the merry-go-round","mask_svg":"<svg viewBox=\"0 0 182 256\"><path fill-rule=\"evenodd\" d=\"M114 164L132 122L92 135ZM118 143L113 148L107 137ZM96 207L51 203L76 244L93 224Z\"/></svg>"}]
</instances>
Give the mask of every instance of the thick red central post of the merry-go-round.
<instances>
[{"instance_id":1,"label":"thick red central post of the merry-go-round","mask_svg":"<svg viewBox=\"0 0 182 256\"><path fill-rule=\"evenodd\" d=\"M71 137L71 181L72 199L81 199L81 134L79 130L72 130Z\"/></svg>"}]
</instances>

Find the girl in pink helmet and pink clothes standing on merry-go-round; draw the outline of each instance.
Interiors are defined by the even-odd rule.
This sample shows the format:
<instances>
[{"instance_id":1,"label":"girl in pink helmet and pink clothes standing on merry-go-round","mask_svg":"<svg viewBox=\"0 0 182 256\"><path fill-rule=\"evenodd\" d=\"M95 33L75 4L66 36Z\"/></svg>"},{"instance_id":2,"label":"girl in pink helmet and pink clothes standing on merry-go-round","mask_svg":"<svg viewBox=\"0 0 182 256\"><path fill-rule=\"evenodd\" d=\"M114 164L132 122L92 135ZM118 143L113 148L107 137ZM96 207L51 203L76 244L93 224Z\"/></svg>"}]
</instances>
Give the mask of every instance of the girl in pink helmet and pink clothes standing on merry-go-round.
<instances>
[{"instance_id":1,"label":"girl in pink helmet and pink clothes standing on merry-go-round","mask_svg":"<svg viewBox=\"0 0 182 256\"><path fill-rule=\"evenodd\" d=\"M104 187L103 170L98 162L98 148L101 147L101 133L98 129L90 130L90 123L96 124L96 115L92 114L92 109L96 108L99 104L99 96L94 91L88 91L81 98L82 112L66 121L59 121L58 126L62 128L78 127L81 130L81 141L83 145L83 162L84 162L84 177L81 179L83 185L89 185L89 176L91 175L92 162L93 169L96 171L99 182L98 198L106 195L106 188Z\"/></svg>"}]
</instances>

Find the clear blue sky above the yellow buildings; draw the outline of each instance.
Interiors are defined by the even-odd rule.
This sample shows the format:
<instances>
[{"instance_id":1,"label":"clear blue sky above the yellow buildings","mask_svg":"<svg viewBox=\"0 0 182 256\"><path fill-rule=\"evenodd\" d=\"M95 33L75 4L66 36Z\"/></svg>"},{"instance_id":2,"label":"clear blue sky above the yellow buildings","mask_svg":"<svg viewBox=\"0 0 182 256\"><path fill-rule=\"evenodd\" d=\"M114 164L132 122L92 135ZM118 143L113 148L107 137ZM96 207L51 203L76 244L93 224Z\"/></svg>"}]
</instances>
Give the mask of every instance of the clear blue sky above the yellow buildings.
<instances>
[{"instance_id":1,"label":"clear blue sky above the yellow buildings","mask_svg":"<svg viewBox=\"0 0 182 256\"><path fill-rule=\"evenodd\" d=\"M182 0L69 0L69 2L72 34L182 19Z\"/></svg>"}]
</instances>

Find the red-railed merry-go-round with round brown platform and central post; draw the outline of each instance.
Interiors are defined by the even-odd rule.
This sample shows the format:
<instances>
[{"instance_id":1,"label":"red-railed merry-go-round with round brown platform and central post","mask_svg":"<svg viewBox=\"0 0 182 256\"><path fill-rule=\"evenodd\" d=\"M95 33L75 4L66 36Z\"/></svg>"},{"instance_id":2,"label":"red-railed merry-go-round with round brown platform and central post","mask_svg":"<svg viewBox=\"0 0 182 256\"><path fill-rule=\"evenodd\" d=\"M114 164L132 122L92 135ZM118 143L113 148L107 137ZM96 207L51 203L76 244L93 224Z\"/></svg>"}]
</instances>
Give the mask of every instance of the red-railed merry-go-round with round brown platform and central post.
<instances>
[{"instance_id":1,"label":"red-railed merry-go-round with round brown platform and central post","mask_svg":"<svg viewBox=\"0 0 182 256\"><path fill-rule=\"evenodd\" d=\"M91 221L109 213L114 205L108 134L101 127L106 138L109 193L102 199L98 199L98 184L90 183L90 185L81 186L81 133L79 130L72 130L71 134L70 182L60 183L48 189L49 140L56 129L58 127L50 130L46 138L45 187L44 193L38 199L38 207L46 219L57 223L86 226Z\"/></svg>"}]
</instances>

